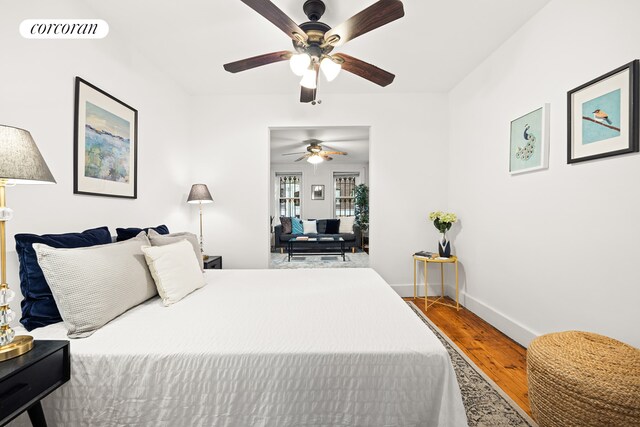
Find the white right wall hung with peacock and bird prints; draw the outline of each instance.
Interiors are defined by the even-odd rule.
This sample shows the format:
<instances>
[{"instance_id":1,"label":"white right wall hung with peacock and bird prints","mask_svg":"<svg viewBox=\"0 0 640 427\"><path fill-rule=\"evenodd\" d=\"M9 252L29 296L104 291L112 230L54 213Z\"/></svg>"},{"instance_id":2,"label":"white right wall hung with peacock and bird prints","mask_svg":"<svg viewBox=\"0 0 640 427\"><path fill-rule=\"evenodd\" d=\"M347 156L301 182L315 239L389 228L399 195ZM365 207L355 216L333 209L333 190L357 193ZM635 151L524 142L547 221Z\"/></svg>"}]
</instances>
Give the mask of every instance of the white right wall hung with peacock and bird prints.
<instances>
[{"instance_id":1,"label":"white right wall hung with peacock and bird prints","mask_svg":"<svg viewBox=\"0 0 640 427\"><path fill-rule=\"evenodd\" d=\"M525 345L578 329L640 346L640 156L566 162L566 93L640 58L638 16L554 0L450 93L465 304ZM510 176L509 123L545 102L549 169Z\"/></svg>"}]
</instances>

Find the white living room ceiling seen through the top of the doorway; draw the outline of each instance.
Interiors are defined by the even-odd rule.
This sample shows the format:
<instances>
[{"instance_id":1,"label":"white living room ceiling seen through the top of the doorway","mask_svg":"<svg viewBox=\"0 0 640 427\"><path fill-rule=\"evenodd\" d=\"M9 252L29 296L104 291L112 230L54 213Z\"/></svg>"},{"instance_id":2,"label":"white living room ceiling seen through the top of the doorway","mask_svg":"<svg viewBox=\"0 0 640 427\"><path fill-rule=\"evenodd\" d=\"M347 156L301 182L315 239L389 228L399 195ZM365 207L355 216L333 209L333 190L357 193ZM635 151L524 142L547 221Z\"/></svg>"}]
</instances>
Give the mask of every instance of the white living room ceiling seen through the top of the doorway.
<instances>
[{"instance_id":1,"label":"white living room ceiling seen through the top of the doorway","mask_svg":"<svg viewBox=\"0 0 640 427\"><path fill-rule=\"evenodd\" d=\"M283 156L283 154L306 153L308 144L303 141L312 138L323 141L320 145L325 150L348 153L346 156L331 156L332 164L369 163L369 128L367 126L272 128L271 163L294 164L302 154L299 156Z\"/></svg>"}]
</instances>

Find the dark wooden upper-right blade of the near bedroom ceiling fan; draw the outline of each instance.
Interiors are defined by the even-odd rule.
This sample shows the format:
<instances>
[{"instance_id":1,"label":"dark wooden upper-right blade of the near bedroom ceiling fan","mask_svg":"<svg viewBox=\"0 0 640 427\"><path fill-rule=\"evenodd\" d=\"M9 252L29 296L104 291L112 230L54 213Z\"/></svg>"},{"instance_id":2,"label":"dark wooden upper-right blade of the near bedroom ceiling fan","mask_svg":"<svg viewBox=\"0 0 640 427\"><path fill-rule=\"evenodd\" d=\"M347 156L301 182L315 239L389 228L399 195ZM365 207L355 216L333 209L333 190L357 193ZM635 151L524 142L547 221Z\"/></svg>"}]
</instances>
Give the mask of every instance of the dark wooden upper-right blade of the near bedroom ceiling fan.
<instances>
[{"instance_id":1,"label":"dark wooden upper-right blade of the near bedroom ceiling fan","mask_svg":"<svg viewBox=\"0 0 640 427\"><path fill-rule=\"evenodd\" d=\"M349 40L353 40L403 16L404 8L401 1L380 0L327 31L324 39L334 47L342 46ZM335 36L338 36L339 39L331 42L332 37L335 38Z\"/></svg>"}]
</instances>

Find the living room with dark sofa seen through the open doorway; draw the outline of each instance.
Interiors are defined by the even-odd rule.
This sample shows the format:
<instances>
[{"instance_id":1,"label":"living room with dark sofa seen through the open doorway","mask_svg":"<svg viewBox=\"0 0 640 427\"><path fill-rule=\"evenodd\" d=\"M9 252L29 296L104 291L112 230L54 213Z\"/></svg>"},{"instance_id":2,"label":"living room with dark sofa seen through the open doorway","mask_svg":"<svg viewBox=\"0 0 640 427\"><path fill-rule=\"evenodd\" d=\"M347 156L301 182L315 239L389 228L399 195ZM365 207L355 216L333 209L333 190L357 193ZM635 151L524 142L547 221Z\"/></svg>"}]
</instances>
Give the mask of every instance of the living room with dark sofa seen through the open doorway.
<instances>
[{"instance_id":1,"label":"living room with dark sofa seen through the open doorway","mask_svg":"<svg viewBox=\"0 0 640 427\"><path fill-rule=\"evenodd\" d=\"M369 266L369 127L270 129L270 268Z\"/></svg>"}]
</instances>

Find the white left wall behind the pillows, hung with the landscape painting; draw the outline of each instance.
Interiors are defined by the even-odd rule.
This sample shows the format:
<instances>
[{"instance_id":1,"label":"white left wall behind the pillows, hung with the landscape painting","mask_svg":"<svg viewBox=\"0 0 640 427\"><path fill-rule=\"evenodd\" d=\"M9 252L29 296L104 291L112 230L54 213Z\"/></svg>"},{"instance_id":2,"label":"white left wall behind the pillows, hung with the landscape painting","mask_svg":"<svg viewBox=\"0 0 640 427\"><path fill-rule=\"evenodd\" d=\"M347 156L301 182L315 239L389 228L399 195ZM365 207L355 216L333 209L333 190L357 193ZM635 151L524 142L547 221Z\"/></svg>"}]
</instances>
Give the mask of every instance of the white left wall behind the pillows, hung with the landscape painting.
<instances>
[{"instance_id":1,"label":"white left wall behind the pillows, hung with the landscape painting","mask_svg":"<svg viewBox=\"0 0 640 427\"><path fill-rule=\"evenodd\" d=\"M116 227L160 223L181 230L193 228L197 215L186 203L192 183L191 153L185 147L188 98L116 34L92 41L23 39L20 22L41 17L96 16L68 0L11 2L0 13L0 123L29 130L57 180L56 185L7 189L8 206L15 211L8 223L8 276L16 290L16 233L107 225L115 234ZM73 194L75 76L138 109L137 200Z\"/></svg>"}]
</instances>

